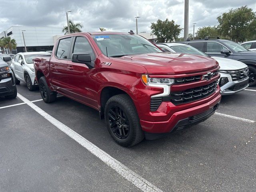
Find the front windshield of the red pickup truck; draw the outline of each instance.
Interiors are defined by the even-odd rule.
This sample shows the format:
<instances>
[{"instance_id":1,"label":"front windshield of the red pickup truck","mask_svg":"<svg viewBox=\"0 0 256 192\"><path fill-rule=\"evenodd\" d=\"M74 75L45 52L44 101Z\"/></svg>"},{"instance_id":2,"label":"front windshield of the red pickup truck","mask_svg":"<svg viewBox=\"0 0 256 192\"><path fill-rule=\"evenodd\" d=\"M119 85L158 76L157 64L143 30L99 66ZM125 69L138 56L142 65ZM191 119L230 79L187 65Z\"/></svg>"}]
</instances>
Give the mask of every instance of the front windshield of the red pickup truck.
<instances>
[{"instance_id":1,"label":"front windshield of the red pickup truck","mask_svg":"<svg viewBox=\"0 0 256 192\"><path fill-rule=\"evenodd\" d=\"M107 34L93 35L92 37L102 53L108 57L162 52L150 41L138 35Z\"/></svg>"}]
</instances>

